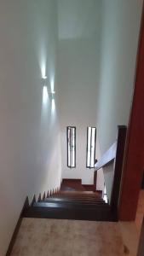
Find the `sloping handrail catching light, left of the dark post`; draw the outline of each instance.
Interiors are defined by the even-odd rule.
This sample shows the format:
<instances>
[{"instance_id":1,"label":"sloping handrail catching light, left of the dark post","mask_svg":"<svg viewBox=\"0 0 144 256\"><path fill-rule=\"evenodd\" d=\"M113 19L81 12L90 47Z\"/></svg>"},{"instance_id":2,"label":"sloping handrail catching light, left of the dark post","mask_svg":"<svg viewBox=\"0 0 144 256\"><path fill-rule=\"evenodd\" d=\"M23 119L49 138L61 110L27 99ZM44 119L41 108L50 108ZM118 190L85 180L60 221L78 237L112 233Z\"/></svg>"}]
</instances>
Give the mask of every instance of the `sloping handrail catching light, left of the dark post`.
<instances>
[{"instance_id":1,"label":"sloping handrail catching light, left of the dark post","mask_svg":"<svg viewBox=\"0 0 144 256\"><path fill-rule=\"evenodd\" d=\"M112 163L112 161L116 157L117 152L117 142L113 143L110 148L108 148L107 152L102 155L101 159L97 161L95 164L95 171L98 171L104 166L107 166Z\"/></svg>"}]
</instances>

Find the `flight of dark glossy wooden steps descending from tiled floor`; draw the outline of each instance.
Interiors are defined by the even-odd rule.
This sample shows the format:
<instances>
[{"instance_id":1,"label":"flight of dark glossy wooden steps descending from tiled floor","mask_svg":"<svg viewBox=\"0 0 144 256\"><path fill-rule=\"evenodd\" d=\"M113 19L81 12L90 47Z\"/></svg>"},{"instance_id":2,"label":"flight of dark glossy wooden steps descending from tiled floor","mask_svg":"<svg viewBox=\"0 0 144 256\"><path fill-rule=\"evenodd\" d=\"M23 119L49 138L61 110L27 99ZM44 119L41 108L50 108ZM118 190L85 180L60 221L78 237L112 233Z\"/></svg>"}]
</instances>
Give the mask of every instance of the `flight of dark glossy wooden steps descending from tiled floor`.
<instances>
[{"instance_id":1,"label":"flight of dark glossy wooden steps descending from tiled floor","mask_svg":"<svg viewBox=\"0 0 144 256\"><path fill-rule=\"evenodd\" d=\"M111 207L96 192L61 190L23 212L25 218L117 221Z\"/></svg>"}]
</instances>

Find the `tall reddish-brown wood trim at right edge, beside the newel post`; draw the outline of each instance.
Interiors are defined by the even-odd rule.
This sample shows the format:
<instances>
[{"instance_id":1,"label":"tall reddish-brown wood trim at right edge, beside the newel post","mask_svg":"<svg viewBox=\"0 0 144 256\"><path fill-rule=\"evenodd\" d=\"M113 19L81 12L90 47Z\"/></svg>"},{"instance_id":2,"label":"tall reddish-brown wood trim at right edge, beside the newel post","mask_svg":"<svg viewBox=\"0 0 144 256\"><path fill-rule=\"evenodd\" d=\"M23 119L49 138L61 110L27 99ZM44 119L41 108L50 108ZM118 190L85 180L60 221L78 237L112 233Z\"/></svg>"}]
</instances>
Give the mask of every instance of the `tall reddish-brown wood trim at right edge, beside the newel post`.
<instances>
[{"instance_id":1,"label":"tall reddish-brown wood trim at right edge, beside the newel post","mask_svg":"<svg viewBox=\"0 0 144 256\"><path fill-rule=\"evenodd\" d=\"M135 220L144 167L144 8L135 72L135 90L128 126L119 218Z\"/></svg>"}]
</instances>

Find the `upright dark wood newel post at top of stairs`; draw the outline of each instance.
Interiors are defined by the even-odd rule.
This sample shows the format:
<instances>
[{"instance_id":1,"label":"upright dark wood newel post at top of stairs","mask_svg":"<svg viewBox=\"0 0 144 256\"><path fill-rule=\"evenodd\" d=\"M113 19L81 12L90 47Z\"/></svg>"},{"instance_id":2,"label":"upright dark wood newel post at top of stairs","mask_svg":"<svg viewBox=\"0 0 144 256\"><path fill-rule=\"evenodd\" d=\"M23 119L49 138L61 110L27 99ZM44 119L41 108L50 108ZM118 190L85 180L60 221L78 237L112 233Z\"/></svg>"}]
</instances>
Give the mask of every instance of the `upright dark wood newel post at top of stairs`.
<instances>
[{"instance_id":1,"label":"upright dark wood newel post at top of stairs","mask_svg":"<svg viewBox=\"0 0 144 256\"><path fill-rule=\"evenodd\" d=\"M120 185L122 179L122 170L124 163L124 149L127 128L124 125L118 125L118 143L114 166L114 177L112 185L111 207L112 210L118 210L118 200L120 194Z\"/></svg>"}]
</instances>

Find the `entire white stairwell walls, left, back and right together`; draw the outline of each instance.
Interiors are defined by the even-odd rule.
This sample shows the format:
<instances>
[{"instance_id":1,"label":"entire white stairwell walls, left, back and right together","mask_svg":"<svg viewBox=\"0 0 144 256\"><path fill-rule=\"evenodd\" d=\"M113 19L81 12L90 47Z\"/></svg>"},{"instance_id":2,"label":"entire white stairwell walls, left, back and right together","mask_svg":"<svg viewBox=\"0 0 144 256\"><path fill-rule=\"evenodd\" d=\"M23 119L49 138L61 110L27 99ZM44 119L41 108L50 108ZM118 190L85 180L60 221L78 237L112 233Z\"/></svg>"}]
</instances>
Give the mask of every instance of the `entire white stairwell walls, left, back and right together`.
<instances>
[{"instance_id":1,"label":"entire white stairwell walls, left, back and right together","mask_svg":"<svg viewBox=\"0 0 144 256\"><path fill-rule=\"evenodd\" d=\"M60 150L62 177L93 183L93 170L85 167L87 126L98 128L99 158L113 143L116 126L128 123L141 4L142 0L58 0L57 27L56 0L1 1L1 256L26 195L32 199L60 186ZM51 98L43 104L44 67L49 90L50 81L55 81L53 108ZM67 125L77 126L75 170L66 167ZM112 168L104 171L110 196Z\"/></svg>"}]
</instances>

